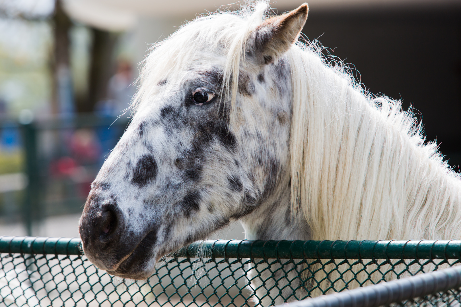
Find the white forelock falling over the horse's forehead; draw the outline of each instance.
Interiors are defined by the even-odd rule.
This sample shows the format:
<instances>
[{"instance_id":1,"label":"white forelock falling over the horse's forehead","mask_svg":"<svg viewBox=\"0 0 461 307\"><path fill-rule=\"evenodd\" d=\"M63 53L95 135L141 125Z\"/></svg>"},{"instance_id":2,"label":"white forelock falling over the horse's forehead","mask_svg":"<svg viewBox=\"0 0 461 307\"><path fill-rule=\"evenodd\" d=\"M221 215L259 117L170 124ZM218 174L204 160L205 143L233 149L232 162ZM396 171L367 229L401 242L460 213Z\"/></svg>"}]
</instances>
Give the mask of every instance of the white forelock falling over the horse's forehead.
<instances>
[{"instance_id":1,"label":"white forelock falling over the horse's forehead","mask_svg":"<svg viewBox=\"0 0 461 307\"><path fill-rule=\"evenodd\" d=\"M239 70L244 66L245 45L248 35L269 14L269 1L248 1L239 11L216 11L185 23L168 38L154 44L142 63L138 79L139 90L131 104L136 112L142 101L148 101L161 80L174 78L203 55L215 53L225 56L224 86L222 92L231 95L235 103ZM232 80L231 80L232 79ZM231 86L232 84L232 86ZM232 88L231 88L232 87Z\"/></svg>"}]
</instances>

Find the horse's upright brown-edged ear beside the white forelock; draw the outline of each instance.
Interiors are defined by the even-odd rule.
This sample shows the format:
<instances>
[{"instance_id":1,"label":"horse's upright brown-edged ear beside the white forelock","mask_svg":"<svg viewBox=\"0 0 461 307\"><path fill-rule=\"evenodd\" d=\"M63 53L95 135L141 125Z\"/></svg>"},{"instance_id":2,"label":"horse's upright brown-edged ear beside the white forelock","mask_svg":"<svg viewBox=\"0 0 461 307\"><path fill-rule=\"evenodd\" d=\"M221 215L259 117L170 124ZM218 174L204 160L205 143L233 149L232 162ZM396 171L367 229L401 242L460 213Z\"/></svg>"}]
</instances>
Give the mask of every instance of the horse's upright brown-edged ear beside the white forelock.
<instances>
[{"instance_id":1,"label":"horse's upright brown-edged ear beside the white forelock","mask_svg":"<svg viewBox=\"0 0 461 307\"><path fill-rule=\"evenodd\" d=\"M273 63L298 39L308 10L307 3L304 3L296 10L267 18L250 34L247 52L258 64Z\"/></svg>"}]
</instances>

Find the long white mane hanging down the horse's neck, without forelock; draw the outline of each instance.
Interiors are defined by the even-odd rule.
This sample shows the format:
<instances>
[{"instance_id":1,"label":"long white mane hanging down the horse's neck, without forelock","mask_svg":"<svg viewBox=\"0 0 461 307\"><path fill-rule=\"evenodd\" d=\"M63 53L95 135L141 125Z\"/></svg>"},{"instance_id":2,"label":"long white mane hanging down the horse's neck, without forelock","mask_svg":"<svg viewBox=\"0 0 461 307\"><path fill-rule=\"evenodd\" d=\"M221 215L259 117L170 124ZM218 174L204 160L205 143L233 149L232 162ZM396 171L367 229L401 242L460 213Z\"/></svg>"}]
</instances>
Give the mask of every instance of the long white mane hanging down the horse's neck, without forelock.
<instances>
[{"instance_id":1,"label":"long white mane hanging down the horse's neck, without forelock","mask_svg":"<svg viewBox=\"0 0 461 307\"><path fill-rule=\"evenodd\" d=\"M361 89L298 43L293 73L292 199L313 239L458 239L460 174L401 102Z\"/></svg>"}]
</instances>

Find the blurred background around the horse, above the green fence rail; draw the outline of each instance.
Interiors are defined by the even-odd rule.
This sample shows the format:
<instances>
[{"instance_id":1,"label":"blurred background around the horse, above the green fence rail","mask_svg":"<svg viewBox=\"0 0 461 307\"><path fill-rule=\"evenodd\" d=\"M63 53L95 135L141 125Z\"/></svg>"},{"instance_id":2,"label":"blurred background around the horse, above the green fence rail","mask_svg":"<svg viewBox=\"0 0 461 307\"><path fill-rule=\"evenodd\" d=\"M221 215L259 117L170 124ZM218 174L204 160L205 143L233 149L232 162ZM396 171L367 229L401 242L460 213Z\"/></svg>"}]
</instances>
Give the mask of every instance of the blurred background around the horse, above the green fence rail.
<instances>
[{"instance_id":1,"label":"blurred background around the horse, above the green fence rail","mask_svg":"<svg viewBox=\"0 0 461 307\"><path fill-rule=\"evenodd\" d=\"M149 44L224 0L0 0L0 235L77 237ZM301 0L272 4L282 13ZM312 0L303 33L461 164L461 0ZM119 116L119 118L117 118ZM233 224L219 238L244 238Z\"/></svg>"}]
</instances>

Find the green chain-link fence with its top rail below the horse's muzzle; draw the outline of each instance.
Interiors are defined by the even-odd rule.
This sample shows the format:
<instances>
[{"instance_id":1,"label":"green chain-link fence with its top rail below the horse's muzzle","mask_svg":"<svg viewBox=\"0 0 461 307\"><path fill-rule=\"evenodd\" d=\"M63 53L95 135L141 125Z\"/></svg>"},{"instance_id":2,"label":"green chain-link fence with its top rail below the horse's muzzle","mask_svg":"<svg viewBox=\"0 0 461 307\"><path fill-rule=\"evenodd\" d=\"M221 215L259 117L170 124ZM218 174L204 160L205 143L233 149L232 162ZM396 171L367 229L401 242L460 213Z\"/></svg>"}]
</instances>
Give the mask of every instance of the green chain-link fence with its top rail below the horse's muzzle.
<instances>
[{"instance_id":1,"label":"green chain-link fence with its top rail below the horse's muzzle","mask_svg":"<svg viewBox=\"0 0 461 307\"><path fill-rule=\"evenodd\" d=\"M0 237L3 306L269 306L457 265L461 241L205 241L147 281L113 277L76 238ZM458 290L401 302L460 303Z\"/></svg>"}]
</instances>

